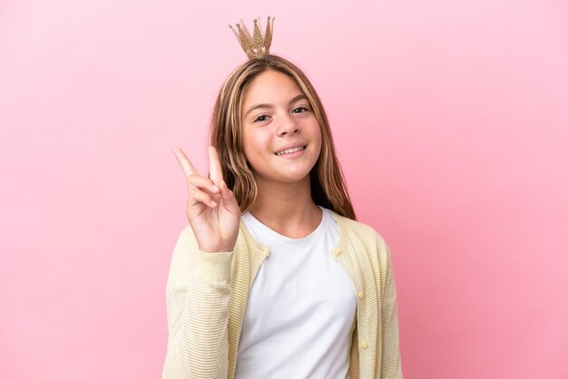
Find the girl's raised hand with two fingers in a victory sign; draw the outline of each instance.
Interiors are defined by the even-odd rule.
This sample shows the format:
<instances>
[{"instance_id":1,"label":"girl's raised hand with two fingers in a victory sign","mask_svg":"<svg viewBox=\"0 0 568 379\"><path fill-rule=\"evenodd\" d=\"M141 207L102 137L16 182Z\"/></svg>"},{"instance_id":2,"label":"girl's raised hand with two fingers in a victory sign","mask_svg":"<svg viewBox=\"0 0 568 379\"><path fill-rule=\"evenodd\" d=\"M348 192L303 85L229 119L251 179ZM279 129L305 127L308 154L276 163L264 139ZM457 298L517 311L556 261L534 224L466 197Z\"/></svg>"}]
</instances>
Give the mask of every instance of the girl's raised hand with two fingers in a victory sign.
<instances>
[{"instance_id":1,"label":"girl's raised hand with two fingers in a victory sign","mask_svg":"<svg viewBox=\"0 0 568 379\"><path fill-rule=\"evenodd\" d=\"M201 176L180 148L174 147L190 191L187 218L201 251L232 251L239 235L240 207L223 180L217 150L209 147L209 178Z\"/></svg>"}]
</instances>

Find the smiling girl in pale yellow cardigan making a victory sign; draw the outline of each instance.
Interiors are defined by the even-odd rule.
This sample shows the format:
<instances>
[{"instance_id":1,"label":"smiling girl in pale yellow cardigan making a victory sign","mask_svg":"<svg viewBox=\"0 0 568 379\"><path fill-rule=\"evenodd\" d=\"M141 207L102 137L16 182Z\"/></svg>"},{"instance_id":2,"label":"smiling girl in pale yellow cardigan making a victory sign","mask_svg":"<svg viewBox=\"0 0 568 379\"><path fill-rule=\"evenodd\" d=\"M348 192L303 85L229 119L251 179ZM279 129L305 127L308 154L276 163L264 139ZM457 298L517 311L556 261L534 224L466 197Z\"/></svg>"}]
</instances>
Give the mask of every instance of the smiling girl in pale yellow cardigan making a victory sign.
<instances>
[{"instance_id":1,"label":"smiling girl in pale yellow cardigan making a victory sign","mask_svg":"<svg viewBox=\"0 0 568 379\"><path fill-rule=\"evenodd\" d=\"M258 51L220 90L209 175L174 148L190 225L162 377L402 378L387 244L356 220L306 75Z\"/></svg>"}]
</instances>

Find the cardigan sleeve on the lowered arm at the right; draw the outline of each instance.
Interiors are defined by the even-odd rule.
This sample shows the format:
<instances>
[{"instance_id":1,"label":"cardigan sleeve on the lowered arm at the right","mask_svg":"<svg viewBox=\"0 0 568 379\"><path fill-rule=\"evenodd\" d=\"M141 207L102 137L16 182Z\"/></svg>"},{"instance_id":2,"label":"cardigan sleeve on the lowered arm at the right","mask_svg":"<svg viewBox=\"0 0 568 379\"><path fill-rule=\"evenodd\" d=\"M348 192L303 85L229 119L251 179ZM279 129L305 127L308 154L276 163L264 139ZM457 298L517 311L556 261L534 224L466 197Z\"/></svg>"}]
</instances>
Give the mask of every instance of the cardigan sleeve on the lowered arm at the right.
<instances>
[{"instance_id":1,"label":"cardigan sleeve on the lowered arm at the right","mask_svg":"<svg viewBox=\"0 0 568 379\"><path fill-rule=\"evenodd\" d=\"M390 249L387 251L385 287L381 298L382 367L381 379L402 379L400 350L398 346L397 288L392 267Z\"/></svg>"}]
</instances>

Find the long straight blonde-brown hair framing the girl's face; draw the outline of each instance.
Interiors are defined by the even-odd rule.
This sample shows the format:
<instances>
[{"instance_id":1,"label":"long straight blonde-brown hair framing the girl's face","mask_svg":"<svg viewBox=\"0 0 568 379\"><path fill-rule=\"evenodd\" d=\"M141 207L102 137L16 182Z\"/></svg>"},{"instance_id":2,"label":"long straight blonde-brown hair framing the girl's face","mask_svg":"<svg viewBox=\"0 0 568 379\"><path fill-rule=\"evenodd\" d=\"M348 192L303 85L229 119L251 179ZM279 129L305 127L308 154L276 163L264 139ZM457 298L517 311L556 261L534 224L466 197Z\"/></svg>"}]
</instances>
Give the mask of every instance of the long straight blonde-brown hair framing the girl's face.
<instances>
[{"instance_id":1,"label":"long straight blonde-brown hair framing the girl's face","mask_svg":"<svg viewBox=\"0 0 568 379\"><path fill-rule=\"evenodd\" d=\"M357 219L349 199L343 172L336 156L328 116L308 77L293 63L273 54L250 59L237 67L220 89L211 116L211 145L219 152L223 179L235 194L242 213L254 205L259 190L247 161L240 126L244 92L252 81L267 70L285 73L308 97L321 130L321 152L309 173L311 197L324 208L341 216Z\"/></svg>"}]
</instances>

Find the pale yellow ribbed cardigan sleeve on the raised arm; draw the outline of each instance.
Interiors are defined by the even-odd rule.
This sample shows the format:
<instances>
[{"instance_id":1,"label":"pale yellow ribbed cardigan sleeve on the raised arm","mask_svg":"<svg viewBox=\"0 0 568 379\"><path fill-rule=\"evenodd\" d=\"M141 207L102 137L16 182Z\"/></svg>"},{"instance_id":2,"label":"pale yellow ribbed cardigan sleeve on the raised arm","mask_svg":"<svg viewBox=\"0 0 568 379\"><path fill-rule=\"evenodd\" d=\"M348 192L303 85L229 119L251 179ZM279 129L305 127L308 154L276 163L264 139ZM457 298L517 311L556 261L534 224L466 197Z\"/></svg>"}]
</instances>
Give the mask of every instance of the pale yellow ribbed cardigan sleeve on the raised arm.
<instances>
[{"instance_id":1,"label":"pale yellow ribbed cardigan sleeve on the raised arm","mask_svg":"<svg viewBox=\"0 0 568 379\"><path fill-rule=\"evenodd\" d=\"M162 379L226 378L233 251L208 253L186 227L166 286L168 347Z\"/></svg>"}]
</instances>

